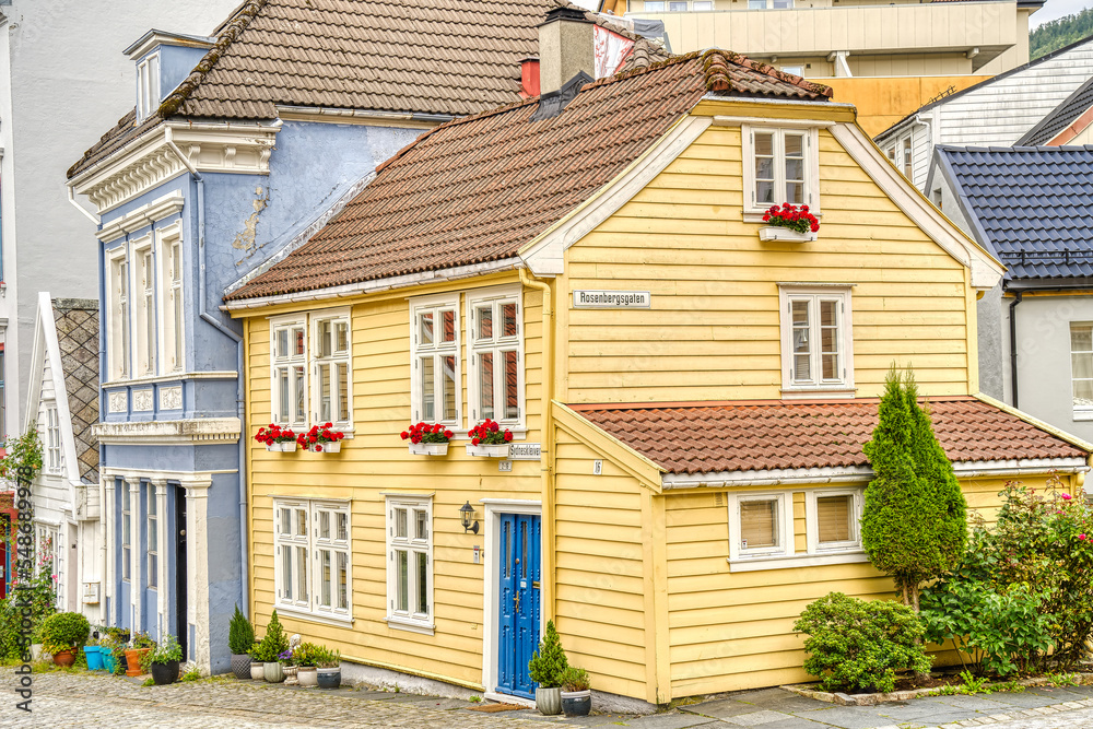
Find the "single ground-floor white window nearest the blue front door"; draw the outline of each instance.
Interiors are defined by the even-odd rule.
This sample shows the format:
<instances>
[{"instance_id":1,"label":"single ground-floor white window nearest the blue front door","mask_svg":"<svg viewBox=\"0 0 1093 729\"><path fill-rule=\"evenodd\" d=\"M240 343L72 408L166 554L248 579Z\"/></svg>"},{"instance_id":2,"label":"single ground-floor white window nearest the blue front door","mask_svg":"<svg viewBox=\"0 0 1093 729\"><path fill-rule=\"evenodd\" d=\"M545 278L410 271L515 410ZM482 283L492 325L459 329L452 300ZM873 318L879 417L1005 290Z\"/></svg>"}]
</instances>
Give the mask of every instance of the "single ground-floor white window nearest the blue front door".
<instances>
[{"instance_id":1,"label":"single ground-floor white window nearest the blue front door","mask_svg":"<svg viewBox=\"0 0 1093 729\"><path fill-rule=\"evenodd\" d=\"M433 505L387 496L387 621L433 630Z\"/></svg>"}]
</instances>

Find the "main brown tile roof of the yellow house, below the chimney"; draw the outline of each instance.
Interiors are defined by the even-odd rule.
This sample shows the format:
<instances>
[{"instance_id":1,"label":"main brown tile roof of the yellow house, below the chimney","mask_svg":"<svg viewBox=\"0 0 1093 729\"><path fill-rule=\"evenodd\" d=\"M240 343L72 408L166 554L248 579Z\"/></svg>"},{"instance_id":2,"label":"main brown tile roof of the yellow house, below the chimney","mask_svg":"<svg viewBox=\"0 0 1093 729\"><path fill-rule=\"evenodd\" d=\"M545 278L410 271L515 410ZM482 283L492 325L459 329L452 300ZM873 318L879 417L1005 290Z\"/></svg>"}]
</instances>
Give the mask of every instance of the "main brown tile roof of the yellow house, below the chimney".
<instances>
[{"instance_id":1,"label":"main brown tile roof of the yellow house, below the chimney","mask_svg":"<svg viewBox=\"0 0 1093 729\"><path fill-rule=\"evenodd\" d=\"M510 258L645 152L709 91L825 99L831 90L736 54L679 56L588 84L556 117L538 99L448 122L296 251L225 299Z\"/></svg>"}]
</instances>

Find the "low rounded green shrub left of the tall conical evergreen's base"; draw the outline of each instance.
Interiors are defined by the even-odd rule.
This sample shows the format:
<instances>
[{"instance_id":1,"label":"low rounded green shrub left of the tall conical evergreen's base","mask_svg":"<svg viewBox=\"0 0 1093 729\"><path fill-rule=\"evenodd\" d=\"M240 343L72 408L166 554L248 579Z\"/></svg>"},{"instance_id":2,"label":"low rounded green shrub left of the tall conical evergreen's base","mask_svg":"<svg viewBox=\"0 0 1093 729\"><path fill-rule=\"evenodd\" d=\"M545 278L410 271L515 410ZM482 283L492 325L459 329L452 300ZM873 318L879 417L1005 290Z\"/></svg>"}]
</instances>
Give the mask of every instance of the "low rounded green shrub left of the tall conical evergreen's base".
<instances>
[{"instance_id":1,"label":"low rounded green shrub left of the tall conical evergreen's base","mask_svg":"<svg viewBox=\"0 0 1093 729\"><path fill-rule=\"evenodd\" d=\"M922 623L897 602L831 592L806 608L794 630L809 635L804 670L821 679L824 691L888 692L896 671L930 670Z\"/></svg>"}]
</instances>

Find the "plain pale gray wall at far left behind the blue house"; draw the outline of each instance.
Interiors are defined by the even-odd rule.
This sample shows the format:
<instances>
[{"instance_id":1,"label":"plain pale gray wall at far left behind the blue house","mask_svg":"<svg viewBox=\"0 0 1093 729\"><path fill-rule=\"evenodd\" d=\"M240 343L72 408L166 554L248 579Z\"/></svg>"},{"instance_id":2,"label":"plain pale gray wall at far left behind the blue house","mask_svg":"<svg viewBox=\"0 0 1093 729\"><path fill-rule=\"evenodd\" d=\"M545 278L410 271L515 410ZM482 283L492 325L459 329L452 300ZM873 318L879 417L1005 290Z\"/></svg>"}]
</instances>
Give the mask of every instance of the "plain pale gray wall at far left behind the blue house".
<instances>
[{"instance_id":1,"label":"plain pale gray wall at far left behind the blue house","mask_svg":"<svg viewBox=\"0 0 1093 729\"><path fill-rule=\"evenodd\" d=\"M19 332L9 336L9 387L25 410L38 291L98 297L91 222L68 202L64 172L134 104L136 70L122 50L149 28L212 33L239 0L14 0L9 17L15 219L15 266L4 261L9 296L15 280ZM5 231L8 233L8 231ZM58 266L58 261L63 261ZM14 350L14 351L13 351Z\"/></svg>"}]
</instances>

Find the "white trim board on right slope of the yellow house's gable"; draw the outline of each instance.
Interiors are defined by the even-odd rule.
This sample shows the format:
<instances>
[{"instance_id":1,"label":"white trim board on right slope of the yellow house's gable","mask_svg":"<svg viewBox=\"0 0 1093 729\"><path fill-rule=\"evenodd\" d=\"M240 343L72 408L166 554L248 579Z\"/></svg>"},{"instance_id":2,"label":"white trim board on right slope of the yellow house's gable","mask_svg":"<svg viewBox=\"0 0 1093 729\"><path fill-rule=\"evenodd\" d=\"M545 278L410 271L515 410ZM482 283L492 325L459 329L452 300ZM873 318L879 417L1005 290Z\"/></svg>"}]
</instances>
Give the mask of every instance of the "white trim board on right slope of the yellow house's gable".
<instances>
[{"instance_id":1,"label":"white trim board on right slope of the yellow house's gable","mask_svg":"<svg viewBox=\"0 0 1093 729\"><path fill-rule=\"evenodd\" d=\"M900 210L954 260L971 269L974 289L986 291L1001 280L1004 267L922 197L860 127L837 124L831 128L831 133Z\"/></svg>"}]
</instances>

